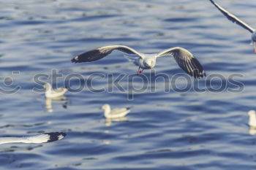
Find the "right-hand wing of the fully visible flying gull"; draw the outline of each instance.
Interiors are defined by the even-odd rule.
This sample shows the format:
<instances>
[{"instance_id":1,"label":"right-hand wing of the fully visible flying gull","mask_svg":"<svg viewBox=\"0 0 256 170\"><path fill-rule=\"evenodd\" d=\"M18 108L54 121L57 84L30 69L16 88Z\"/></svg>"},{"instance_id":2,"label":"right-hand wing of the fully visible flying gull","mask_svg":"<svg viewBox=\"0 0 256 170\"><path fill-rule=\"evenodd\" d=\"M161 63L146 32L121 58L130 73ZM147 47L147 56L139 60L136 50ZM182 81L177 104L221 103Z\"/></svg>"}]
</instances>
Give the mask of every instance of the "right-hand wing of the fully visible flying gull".
<instances>
[{"instance_id":1,"label":"right-hand wing of the fully visible flying gull","mask_svg":"<svg viewBox=\"0 0 256 170\"><path fill-rule=\"evenodd\" d=\"M178 63L178 66L180 66L181 69L183 69L192 77L200 78L206 76L206 72L203 70L203 66L188 50L181 47L173 47L162 51L157 55L157 57L163 57L167 55L173 56Z\"/></svg>"}]
</instances>

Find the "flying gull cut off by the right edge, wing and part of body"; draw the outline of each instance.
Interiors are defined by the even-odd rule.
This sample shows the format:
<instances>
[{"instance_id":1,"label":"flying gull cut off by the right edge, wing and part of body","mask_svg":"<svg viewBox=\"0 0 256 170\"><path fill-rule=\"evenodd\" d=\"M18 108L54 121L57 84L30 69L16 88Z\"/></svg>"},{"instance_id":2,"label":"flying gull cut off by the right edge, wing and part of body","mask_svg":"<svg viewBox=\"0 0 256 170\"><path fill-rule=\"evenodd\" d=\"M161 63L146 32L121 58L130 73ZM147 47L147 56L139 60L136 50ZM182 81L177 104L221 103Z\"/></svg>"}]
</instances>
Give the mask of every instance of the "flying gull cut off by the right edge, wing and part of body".
<instances>
[{"instance_id":1,"label":"flying gull cut off by the right edge, wing and part of body","mask_svg":"<svg viewBox=\"0 0 256 170\"><path fill-rule=\"evenodd\" d=\"M237 23L239 26L245 28L246 30L250 31L252 33L252 45L254 48L254 52L256 53L256 30L252 27L250 27L248 24L244 23L244 21L237 18L235 15L228 12L226 9L219 6L219 4L215 3L213 0L210 0L212 4L214 4L217 9L219 9L220 12L222 12L223 15L227 17L228 20L231 20L233 23Z\"/></svg>"}]
</instances>

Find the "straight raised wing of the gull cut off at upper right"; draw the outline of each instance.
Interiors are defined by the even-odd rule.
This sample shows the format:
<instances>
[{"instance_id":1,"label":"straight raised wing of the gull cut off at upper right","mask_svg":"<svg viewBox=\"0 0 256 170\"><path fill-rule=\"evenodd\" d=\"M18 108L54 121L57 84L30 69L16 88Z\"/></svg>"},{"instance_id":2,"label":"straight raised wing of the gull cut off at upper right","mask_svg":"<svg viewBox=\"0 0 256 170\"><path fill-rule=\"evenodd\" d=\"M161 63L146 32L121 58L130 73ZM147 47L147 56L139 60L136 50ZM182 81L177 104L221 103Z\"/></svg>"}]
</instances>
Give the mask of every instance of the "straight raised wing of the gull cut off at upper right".
<instances>
[{"instance_id":1,"label":"straight raised wing of the gull cut off at upper right","mask_svg":"<svg viewBox=\"0 0 256 170\"><path fill-rule=\"evenodd\" d=\"M253 33L253 31L255 31L254 28L248 26L248 24L244 23L244 21L240 20L235 15L228 12L226 9L220 7L219 4L215 3L213 0L210 0L210 1L212 4L214 4L215 7L217 7L217 9L219 9L220 12L222 12L223 15L225 15L227 17L228 20L231 20L233 23L237 23L239 26L245 28L246 30L250 31L251 33Z\"/></svg>"}]
</instances>

